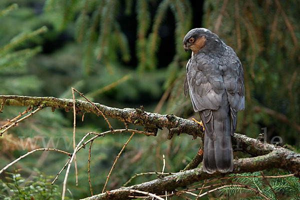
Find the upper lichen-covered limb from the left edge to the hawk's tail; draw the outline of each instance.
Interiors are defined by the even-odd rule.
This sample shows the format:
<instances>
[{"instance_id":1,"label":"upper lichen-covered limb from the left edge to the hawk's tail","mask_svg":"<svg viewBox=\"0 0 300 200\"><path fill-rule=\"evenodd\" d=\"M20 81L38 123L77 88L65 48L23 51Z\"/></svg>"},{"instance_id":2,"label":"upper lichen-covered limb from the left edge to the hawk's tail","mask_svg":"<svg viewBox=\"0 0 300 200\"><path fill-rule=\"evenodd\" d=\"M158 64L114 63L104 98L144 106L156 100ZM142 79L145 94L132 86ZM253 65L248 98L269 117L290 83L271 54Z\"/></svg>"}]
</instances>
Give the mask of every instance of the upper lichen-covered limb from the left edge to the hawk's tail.
<instances>
[{"instance_id":1,"label":"upper lichen-covered limb from the left edge to the hawk's tail","mask_svg":"<svg viewBox=\"0 0 300 200\"><path fill-rule=\"evenodd\" d=\"M35 96L18 96L18 95L0 95L0 101L5 105L19 106L39 106L64 108L66 111L72 109L73 100L55 97L35 97ZM169 130L168 139L174 134L187 133L190 135L203 136L203 129L196 122L177 117L175 115L158 114L146 112L140 108L115 108L93 103L106 117L114 118L125 123L143 125L149 132L157 132L158 128L165 127ZM76 110L92 112L98 114L98 111L91 103L83 100L75 100Z\"/></svg>"}]
</instances>

